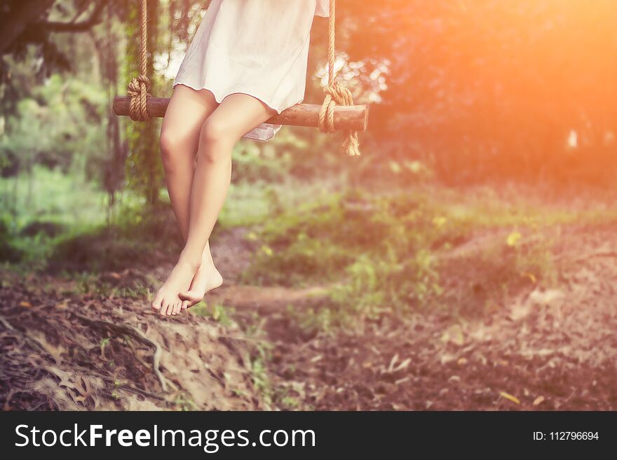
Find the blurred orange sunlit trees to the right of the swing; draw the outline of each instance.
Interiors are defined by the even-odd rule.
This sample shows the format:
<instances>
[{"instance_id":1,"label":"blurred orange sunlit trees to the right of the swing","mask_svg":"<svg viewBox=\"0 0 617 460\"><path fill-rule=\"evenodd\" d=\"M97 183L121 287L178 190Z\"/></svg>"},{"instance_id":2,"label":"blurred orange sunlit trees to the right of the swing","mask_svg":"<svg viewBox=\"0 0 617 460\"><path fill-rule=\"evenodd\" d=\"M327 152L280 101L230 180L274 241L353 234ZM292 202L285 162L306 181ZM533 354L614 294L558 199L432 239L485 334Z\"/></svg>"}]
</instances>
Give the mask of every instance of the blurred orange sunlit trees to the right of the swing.
<instances>
[{"instance_id":1,"label":"blurred orange sunlit trees to the right of the swing","mask_svg":"<svg viewBox=\"0 0 617 460\"><path fill-rule=\"evenodd\" d=\"M450 182L615 179L617 11L610 0L342 0L340 48L377 68L379 156Z\"/></svg>"}]
</instances>

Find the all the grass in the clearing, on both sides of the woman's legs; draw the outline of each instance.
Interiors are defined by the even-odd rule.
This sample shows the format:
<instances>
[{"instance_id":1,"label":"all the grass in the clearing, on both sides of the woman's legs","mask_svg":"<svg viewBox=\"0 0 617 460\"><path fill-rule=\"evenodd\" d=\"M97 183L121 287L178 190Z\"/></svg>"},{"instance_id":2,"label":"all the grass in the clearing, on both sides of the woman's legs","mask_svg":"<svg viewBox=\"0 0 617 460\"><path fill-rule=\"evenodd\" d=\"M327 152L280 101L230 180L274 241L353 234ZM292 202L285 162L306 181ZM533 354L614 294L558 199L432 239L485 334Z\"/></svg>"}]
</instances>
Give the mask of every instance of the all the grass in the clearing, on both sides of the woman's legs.
<instances>
[{"instance_id":1,"label":"all the grass in the clearing, on both sides of the woman's legs","mask_svg":"<svg viewBox=\"0 0 617 460\"><path fill-rule=\"evenodd\" d=\"M248 171L250 155L243 166ZM267 162L260 160L255 167L267 167ZM283 179L279 173L285 167L273 169L278 182L253 174L251 180L232 183L217 231L250 228L255 252L243 274L247 283L332 286L323 307L298 319L307 328L333 328L392 309L452 305L442 296L448 287L444 281L468 279L468 272L482 284L499 286L491 289L502 294L524 280L552 286L558 271L552 229L617 222L617 209L602 202L547 200L520 188L504 186L497 193L487 187L456 190L422 183L350 189L344 188L342 174L311 182ZM147 211L143 200L126 193L109 226L107 195L79 174L35 167L32 176L0 179L0 191L0 256L3 251L17 254L16 260L35 268L61 262L61 269L71 269L67 263L73 263L86 272L77 280L83 291L147 295L145 284L118 290L90 278L147 262L156 253L168 257L179 248L168 204ZM165 190L161 198L168 200ZM463 258L461 267L441 261L443 254L491 232L496 236L482 242L470 259ZM461 273L451 273L456 270ZM477 280L468 279L468 284L473 291ZM459 294L476 301L471 292ZM219 307L208 307L204 314L226 321Z\"/></svg>"}]
</instances>

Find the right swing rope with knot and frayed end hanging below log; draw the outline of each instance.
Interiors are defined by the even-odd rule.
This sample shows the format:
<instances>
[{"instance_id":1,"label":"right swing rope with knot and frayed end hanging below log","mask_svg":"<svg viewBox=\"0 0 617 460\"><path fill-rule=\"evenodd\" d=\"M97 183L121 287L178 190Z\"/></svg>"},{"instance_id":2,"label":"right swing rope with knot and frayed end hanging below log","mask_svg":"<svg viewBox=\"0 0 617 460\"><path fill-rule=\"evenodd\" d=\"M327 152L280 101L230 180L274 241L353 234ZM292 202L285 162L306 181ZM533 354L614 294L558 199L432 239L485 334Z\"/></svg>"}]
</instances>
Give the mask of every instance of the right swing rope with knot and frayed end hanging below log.
<instances>
[{"instance_id":1,"label":"right swing rope with knot and frayed end hanging below log","mask_svg":"<svg viewBox=\"0 0 617 460\"><path fill-rule=\"evenodd\" d=\"M339 81L334 81L334 61L336 59L336 53L334 48L334 37L336 36L336 0L330 0L330 18L328 20L328 83L323 92L325 97L323 104L319 111L319 130L321 132L333 133L336 131L334 128L334 107L338 106L351 106L353 105L353 97L351 91L345 88L345 86ZM358 132L346 131L345 141L341 146L341 150L345 151L347 155L358 156L360 150L358 149Z\"/></svg>"}]
</instances>

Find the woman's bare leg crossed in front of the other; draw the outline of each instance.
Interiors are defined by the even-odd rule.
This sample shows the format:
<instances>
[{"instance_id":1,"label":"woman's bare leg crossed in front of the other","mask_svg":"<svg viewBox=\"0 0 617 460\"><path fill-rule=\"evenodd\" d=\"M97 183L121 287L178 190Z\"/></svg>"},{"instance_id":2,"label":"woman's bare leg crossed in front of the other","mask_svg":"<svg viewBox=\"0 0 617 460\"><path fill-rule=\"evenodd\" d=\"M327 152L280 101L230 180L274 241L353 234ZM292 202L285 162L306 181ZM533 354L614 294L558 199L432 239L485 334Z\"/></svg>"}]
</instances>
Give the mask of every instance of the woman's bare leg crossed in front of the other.
<instances>
[{"instance_id":1,"label":"woman's bare leg crossed in front of the other","mask_svg":"<svg viewBox=\"0 0 617 460\"><path fill-rule=\"evenodd\" d=\"M236 93L227 96L203 123L191 189L187 244L156 295L163 305L161 314L179 312L182 304L175 300L178 295L189 302L196 297L191 290L191 280L202 265L203 251L229 188L233 146L274 113L259 99ZM168 307L163 311L165 305Z\"/></svg>"}]
</instances>

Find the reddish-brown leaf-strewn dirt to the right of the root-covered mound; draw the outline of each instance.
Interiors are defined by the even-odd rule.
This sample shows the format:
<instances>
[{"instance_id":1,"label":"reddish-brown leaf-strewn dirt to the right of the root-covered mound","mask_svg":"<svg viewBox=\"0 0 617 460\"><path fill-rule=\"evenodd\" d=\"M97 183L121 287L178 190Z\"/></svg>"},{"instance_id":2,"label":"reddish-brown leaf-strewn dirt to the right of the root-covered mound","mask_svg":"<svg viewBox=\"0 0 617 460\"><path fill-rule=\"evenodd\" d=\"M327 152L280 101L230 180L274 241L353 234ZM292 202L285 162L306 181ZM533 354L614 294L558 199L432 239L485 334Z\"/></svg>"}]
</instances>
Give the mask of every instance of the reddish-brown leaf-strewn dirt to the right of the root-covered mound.
<instances>
[{"instance_id":1,"label":"reddish-brown leaf-strewn dirt to the right of the root-covered mound","mask_svg":"<svg viewBox=\"0 0 617 460\"><path fill-rule=\"evenodd\" d=\"M301 407L616 410L617 234L576 227L558 233L551 254L559 273L555 288L527 279L472 317L453 318L443 309L307 337L293 326L288 306L319 305L319 287L231 282L215 295L246 321L252 312L265 321L275 344L271 372ZM472 302L490 306L482 295L486 275L475 270L474 260L487 239L506 235L478 235L444 254L446 290L470 291ZM226 246L220 243L219 253Z\"/></svg>"}]
</instances>

